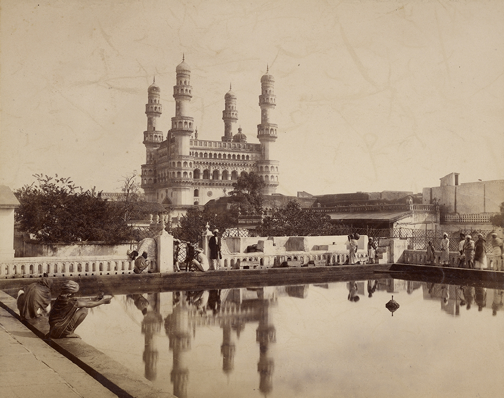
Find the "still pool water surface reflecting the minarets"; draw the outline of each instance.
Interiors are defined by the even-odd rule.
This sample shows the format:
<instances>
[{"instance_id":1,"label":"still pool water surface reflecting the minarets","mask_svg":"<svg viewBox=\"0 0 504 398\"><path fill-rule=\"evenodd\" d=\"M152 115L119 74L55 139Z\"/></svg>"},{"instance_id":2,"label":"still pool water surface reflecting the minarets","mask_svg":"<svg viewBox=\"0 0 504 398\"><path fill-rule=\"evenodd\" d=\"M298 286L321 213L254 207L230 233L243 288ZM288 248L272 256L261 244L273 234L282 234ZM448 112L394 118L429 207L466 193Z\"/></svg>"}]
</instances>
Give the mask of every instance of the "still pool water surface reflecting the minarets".
<instances>
[{"instance_id":1,"label":"still pool water surface reflecting the minarets","mask_svg":"<svg viewBox=\"0 0 504 398\"><path fill-rule=\"evenodd\" d=\"M391 279L135 292L77 331L179 398L496 397L502 293Z\"/></svg>"}]
</instances>

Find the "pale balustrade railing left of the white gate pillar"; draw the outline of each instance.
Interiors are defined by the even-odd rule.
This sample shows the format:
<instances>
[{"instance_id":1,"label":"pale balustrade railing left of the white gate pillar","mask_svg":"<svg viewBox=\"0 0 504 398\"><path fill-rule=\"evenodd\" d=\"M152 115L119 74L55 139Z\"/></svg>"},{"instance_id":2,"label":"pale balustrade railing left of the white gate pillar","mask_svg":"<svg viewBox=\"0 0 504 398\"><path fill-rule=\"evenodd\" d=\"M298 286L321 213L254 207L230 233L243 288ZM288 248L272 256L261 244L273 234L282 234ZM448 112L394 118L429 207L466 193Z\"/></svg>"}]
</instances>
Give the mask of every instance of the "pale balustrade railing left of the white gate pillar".
<instances>
[{"instance_id":1,"label":"pale balustrade railing left of the white gate pillar","mask_svg":"<svg viewBox=\"0 0 504 398\"><path fill-rule=\"evenodd\" d=\"M150 261L149 270L157 271L156 259ZM83 257L16 257L0 261L0 278L118 275L133 273L134 261L129 257L83 256Z\"/></svg>"}]
</instances>

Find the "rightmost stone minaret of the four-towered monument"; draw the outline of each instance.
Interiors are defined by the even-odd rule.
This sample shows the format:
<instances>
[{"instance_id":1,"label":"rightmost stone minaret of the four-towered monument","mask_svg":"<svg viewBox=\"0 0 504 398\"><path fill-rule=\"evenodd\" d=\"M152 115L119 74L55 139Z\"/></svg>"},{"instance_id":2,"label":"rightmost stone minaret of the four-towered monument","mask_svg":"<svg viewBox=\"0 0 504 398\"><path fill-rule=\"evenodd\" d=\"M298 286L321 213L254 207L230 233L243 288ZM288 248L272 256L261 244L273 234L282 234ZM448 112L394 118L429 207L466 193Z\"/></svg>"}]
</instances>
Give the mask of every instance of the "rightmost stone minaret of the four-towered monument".
<instances>
[{"instance_id":1,"label":"rightmost stone minaret of the four-towered monument","mask_svg":"<svg viewBox=\"0 0 504 398\"><path fill-rule=\"evenodd\" d=\"M257 125L257 138L261 143L261 160L257 163L258 174L266 182L262 193L271 195L278 186L278 161L270 159L270 145L277 139L278 126L270 122L271 112L276 106L276 96L273 93L275 80L268 74L261 78L261 95L259 106L261 107L261 124Z\"/></svg>"}]
</instances>

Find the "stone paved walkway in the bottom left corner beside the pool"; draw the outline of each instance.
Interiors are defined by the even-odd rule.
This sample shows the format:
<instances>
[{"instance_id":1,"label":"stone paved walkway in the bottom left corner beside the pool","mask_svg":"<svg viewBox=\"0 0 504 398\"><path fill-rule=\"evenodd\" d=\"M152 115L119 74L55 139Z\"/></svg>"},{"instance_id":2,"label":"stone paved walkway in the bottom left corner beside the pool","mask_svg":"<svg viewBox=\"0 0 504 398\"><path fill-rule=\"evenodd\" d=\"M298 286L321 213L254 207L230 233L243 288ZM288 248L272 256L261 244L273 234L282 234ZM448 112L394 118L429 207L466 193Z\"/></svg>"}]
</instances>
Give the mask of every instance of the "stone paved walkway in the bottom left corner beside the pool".
<instances>
[{"instance_id":1,"label":"stone paved walkway in the bottom left corner beside the pool","mask_svg":"<svg viewBox=\"0 0 504 398\"><path fill-rule=\"evenodd\" d=\"M116 397L0 308L0 397Z\"/></svg>"}]
</instances>

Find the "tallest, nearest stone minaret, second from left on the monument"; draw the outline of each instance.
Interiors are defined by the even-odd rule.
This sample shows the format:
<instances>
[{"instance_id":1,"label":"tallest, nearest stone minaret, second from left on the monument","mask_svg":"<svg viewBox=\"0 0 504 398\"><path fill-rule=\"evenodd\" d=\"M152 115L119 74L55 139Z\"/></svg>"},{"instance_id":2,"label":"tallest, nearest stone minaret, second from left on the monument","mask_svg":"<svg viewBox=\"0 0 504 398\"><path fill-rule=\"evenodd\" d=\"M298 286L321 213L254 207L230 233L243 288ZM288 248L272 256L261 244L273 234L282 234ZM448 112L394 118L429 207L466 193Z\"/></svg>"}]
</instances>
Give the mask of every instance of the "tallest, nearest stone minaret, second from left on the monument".
<instances>
[{"instance_id":1,"label":"tallest, nearest stone minaret, second from left on the monument","mask_svg":"<svg viewBox=\"0 0 504 398\"><path fill-rule=\"evenodd\" d=\"M188 105L193 98L193 87L190 82L191 68L185 63L184 57L177 65L176 73L177 81L173 86L175 117L171 118L169 144L172 161L169 171L174 175L171 179L171 201L174 205L186 205L192 203L194 158L190 156L190 140L194 133L194 119L188 116Z\"/></svg>"}]
</instances>

